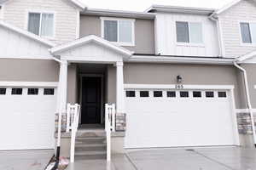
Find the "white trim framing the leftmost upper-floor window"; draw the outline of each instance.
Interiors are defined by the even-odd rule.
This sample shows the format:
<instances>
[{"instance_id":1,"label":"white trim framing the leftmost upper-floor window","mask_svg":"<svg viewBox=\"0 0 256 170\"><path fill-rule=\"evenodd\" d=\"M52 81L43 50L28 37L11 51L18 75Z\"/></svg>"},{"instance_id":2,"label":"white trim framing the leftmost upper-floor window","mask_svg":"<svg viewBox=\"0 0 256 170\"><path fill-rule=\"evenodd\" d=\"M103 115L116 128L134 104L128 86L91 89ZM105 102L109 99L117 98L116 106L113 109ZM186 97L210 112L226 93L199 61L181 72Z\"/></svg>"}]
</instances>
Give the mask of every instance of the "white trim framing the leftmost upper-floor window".
<instances>
[{"instance_id":1,"label":"white trim framing the leftmost upper-floor window","mask_svg":"<svg viewBox=\"0 0 256 170\"><path fill-rule=\"evenodd\" d=\"M30 13L38 13L40 14L40 26L39 26L39 37L44 37L46 39L49 39L49 40L55 40L55 16L56 16L56 12L55 11L48 11L48 10L33 10L33 9L30 9L30 10L27 10L26 11L26 22L25 22L25 29L26 31L28 30L28 20L29 20L29 14ZM53 19L53 37L49 37L49 36L41 36L41 24L42 24L42 14L53 14L54 15L54 19Z\"/></svg>"}]
</instances>

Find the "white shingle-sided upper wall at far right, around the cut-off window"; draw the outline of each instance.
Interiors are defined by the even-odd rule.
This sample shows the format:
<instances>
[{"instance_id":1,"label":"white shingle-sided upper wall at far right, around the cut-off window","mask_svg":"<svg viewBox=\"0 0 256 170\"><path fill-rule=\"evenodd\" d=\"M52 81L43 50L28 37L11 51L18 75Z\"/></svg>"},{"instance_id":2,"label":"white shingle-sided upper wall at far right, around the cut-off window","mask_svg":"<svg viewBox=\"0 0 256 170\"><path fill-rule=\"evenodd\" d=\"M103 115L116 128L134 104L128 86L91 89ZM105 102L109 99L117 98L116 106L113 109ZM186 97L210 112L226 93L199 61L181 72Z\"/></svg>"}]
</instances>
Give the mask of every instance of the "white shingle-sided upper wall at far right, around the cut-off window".
<instances>
[{"instance_id":1,"label":"white shingle-sided upper wall at far right, around the cut-off window","mask_svg":"<svg viewBox=\"0 0 256 170\"><path fill-rule=\"evenodd\" d=\"M256 49L241 43L240 22L256 22L256 3L247 0L237 3L218 16L222 30L225 57L238 57Z\"/></svg>"}]
</instances>

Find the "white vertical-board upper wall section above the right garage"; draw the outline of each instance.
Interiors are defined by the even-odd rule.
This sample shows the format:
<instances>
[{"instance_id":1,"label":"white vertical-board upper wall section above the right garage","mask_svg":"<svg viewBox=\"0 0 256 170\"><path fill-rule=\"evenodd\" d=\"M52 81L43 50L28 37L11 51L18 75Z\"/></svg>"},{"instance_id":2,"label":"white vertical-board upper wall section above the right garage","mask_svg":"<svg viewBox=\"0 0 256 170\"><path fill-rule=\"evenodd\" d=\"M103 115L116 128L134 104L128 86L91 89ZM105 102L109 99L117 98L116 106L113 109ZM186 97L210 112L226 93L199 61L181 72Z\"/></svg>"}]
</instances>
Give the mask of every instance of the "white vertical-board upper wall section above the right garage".
<instances>
[{"instance_id":1,"label":"white vertical-board upper wall section above the right garage","mask_svg":"<svg viewBox=\"0 0 256 170\"><path fill-rule=\"evenodd\" d=\"M176 21L202 23L203 44L177 43ZM216 23L207 15L158 13L155 20L156 54L217 57L219 55Z\"/></svg>"}]
</instances>

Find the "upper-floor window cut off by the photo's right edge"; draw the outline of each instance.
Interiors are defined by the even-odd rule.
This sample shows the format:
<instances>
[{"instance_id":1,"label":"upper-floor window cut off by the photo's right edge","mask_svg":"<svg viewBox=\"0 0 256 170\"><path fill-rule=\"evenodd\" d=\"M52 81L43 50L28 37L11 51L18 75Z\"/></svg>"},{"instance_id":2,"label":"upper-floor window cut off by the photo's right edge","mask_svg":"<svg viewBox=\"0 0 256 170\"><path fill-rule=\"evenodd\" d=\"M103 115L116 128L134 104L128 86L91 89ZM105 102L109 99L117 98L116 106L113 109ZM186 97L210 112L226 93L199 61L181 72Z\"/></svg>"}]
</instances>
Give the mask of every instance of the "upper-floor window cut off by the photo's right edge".
<instances>
[{"instance_id":1,"label":"upper-floor window cut off by the photo's right edge","mask_svg":"<svg viewBox=\"0 0 256 170\"><path fill-rule=\"evenodd\" d=\"M241 22L240 30L243 43L256 43L256 23Z\"/></svg>"}]
</instances>

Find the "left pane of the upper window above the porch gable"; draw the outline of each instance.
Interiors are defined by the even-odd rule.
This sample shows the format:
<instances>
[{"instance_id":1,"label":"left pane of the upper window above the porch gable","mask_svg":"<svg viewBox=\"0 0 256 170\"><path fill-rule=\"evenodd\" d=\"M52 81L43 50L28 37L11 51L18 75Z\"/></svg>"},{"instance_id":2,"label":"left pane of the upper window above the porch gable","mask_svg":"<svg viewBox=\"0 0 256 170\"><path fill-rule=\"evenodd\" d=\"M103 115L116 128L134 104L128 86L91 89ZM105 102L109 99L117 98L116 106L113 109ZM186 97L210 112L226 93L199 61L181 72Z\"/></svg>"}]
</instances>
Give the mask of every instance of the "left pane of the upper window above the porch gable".
<instances>
[{"instance_id":1,"label":"left pane of the upper window above the porch gable","mask_svg":"<svg viewBox=\"0 0 256 170\"><path fill-rule=\"evenodd\" d=\"M104 38L109 42L117 42L116 20L104 20Z\"/></svg>"}]
</instances>

